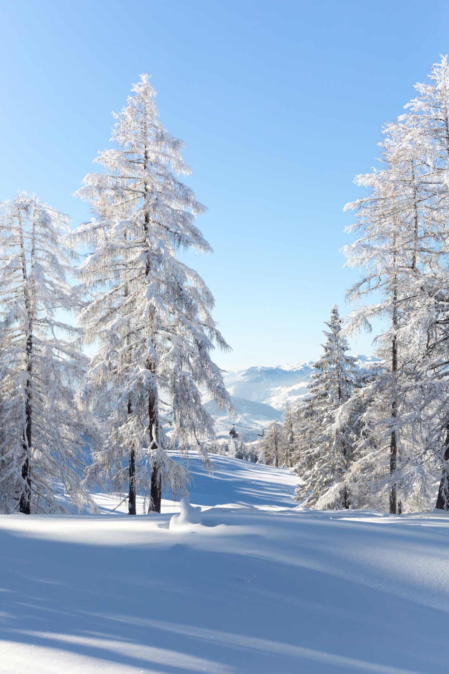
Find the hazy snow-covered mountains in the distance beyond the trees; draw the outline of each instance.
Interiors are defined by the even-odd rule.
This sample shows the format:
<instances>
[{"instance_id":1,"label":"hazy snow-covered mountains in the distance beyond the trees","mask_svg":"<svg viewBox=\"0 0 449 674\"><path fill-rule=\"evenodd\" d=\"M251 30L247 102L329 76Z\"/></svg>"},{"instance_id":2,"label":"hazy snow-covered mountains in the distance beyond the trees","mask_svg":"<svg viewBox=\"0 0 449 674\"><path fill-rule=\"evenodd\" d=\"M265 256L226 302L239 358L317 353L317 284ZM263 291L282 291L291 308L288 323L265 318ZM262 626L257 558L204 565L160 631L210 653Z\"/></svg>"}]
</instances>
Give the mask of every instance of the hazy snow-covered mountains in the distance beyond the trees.
<instances>
[{"instance_id":1,"label":"hazy snow-covered mountains in the distance beyond the trees","mask_svg":"<svg viewBox=\"0 0 449 674\"><path fill-rule=\"evenodd\" d=\"M378 362L373 356L355 357L361 369ZM266 429L272 421L282 421L285 404L294 404L307 393L312 366L313 361L307 361L276 367L256 365L246 370L228 372L225 384L231 394L235 415L229 419L214 402L205 404L206 410L216 421L217 437L228 439L234 424L239 439L250 442L256 440L262 428Z\"/></svg>"}]
</instances>

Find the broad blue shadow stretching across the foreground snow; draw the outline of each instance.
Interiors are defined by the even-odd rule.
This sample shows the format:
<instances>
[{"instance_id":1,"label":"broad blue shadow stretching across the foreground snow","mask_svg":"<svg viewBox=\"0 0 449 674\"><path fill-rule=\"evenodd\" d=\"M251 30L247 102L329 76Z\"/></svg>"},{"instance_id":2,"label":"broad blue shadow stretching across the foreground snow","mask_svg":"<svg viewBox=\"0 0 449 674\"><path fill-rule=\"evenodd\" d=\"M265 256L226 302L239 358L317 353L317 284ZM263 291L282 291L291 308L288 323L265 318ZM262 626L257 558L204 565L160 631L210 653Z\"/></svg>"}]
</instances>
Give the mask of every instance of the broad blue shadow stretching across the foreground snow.
<instances>
[{"instance_id":1,"label":"broad blue shadow stretching across the foreground snow","mask_svg":"<svg viewBox=\"0 0 449 674\"><path fill-rule=\"evenodd\" d=\"M106 547L3 531L0 545L0 638L22 646L173 674L446 668L446 611L301 562L188 539Z\"/></svg>"}]
</instances>

